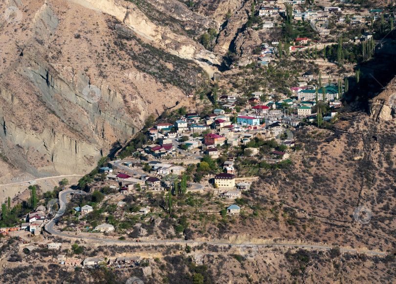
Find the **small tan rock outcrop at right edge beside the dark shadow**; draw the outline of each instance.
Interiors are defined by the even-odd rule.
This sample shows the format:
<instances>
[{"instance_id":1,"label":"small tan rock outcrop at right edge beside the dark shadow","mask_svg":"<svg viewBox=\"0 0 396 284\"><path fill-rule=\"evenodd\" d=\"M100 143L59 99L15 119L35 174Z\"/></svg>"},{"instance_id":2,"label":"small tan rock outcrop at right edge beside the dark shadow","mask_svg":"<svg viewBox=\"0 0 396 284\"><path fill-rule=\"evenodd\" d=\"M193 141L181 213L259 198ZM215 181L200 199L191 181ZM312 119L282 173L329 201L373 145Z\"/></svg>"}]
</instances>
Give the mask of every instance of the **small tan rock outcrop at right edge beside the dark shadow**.
<instances>
[{"instance_id":1,"label":"small tan rock outcrop at right edge beside the dark shadow","mask_svg":"<svg viewBox=\"0 0 396 284\"><path fill-rule=\"evenodd\" d=\"M378 96L369 101L369 114L378 122L396 119L396 78L390 81Z\"/></svg>"}]
</instances>

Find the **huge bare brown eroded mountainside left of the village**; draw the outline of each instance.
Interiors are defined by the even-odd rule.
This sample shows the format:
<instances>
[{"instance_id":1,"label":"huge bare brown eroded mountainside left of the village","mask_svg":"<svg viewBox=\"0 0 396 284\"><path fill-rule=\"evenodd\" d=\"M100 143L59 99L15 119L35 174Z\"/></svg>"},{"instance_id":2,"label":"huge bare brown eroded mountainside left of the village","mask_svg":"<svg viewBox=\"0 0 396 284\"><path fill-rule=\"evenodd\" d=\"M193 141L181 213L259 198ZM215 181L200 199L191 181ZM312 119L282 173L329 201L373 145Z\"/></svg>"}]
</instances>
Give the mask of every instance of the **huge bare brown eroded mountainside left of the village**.
<instances>
[{"instance_id":1,"label":"huge bare brown eroded mountainside left of the village","mask_svg":"<svg viewBox=\"0 0 396 284\"><path fill-rule=\"evenodd\" d=\"M120 40L113 17L63 0L0 8L14 5L22 19L0 26L0 153L22 171L85 174L148 115L188 106L182 89L134 67L143 43ZM201 72L190 64L186 78Z\"/></svg>"}]
</instances>

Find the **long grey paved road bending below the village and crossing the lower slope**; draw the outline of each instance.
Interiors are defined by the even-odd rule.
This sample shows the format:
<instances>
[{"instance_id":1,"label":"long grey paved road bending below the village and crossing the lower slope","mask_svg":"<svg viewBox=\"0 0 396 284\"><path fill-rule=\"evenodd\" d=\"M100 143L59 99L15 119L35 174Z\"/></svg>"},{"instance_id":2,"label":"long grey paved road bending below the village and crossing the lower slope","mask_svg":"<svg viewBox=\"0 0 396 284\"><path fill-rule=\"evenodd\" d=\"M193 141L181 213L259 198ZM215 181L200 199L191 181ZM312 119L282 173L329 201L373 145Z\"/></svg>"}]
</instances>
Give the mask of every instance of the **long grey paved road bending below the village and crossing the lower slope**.
<instances>
[{"instance_id":1,"label":"long grey paved road bending below the village and crossing the lower slope","mask_svg":"<svg viewBox=\"0 0 396 284\"><path fill-rule=\"evenodd\" d=\"M63 215L66 209L67 194L70 193L79 193L77 190L64 190L59 193L59 200L60 200L60 209L58 213L54 216L54 218L45 225L45 230L55 236L59 237L69 237L69 238L76 238L81 240L92 240L98 241L103 244L111 244L111 243L125 243L129 245L144 245L144 244L151 244L151 245L163 245L163 244L211 244L211 245L219 245L219 246L228 246L231 245L233 247L267 247L267 248L274 248L274 247L300 247L305 249L317 249L317 250L330 250L331 246L322 246L322 245L309 245L309 244L289 244L289 243L277 243L277 244L234 244L234 243L220 243L220 242L198 242L198 241L183 241L183 240L162 240L162 241L147 241L147 242L130 242L130 241L117 241L117 240L109 240L103 238L94 238L94 237L84 237L84 236L76 236L76 235L68 235L61 233L55 230L53 227L55 223L58 222L59 217ZM89 245L89 244L86 244ZM358 250L352 248L341 248L340 251L351 252L351 253L366 253L371 255L378 255L378 256L386 256L386 252L378 252L378 251L367 251L367 250Z\"/></svg>"}]
</instances>

